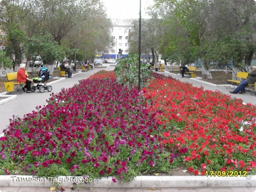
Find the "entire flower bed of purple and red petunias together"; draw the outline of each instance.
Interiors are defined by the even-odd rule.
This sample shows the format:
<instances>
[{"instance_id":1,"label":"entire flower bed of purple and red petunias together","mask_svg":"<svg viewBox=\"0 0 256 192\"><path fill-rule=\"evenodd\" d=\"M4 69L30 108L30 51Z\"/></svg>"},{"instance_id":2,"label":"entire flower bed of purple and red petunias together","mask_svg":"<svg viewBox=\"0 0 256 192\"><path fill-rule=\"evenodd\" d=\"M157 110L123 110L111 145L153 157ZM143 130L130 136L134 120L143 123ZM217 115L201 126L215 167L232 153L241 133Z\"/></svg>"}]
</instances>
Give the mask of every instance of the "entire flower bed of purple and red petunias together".
<instances>
[{"instance_id":1,"label":"entire flower bed of purple and red petunias together","mask_svg":"<svg viewBox=\"0 0 256 192\"><path fill-rule=\"evenodd\" d=\"M255 173L256 108L153 73L137 89L100 71L14 119L0 138L0 174L129 181L187 166ZM254 170L251 170L254 169Z\"/></svg>"}]
</instances>

